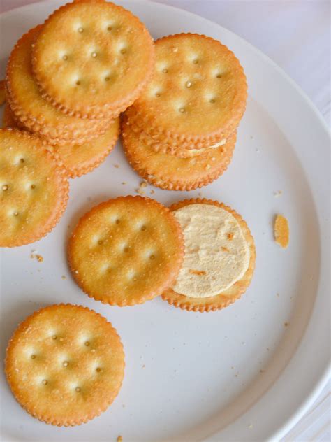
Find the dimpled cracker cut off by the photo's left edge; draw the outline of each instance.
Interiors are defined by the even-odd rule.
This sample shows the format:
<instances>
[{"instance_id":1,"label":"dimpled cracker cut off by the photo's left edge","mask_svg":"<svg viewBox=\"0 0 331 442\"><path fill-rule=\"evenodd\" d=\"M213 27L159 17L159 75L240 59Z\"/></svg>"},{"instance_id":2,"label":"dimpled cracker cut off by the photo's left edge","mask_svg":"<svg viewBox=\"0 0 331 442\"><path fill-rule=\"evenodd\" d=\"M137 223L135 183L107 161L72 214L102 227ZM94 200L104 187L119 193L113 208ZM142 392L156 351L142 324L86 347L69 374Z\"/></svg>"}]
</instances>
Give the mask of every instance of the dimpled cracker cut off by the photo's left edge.
<instances>
[{"instance_id":1,"label":"dimpled cracker cut off by the photo's left edge","mask_svg":"<svg viewBox=\"0 0 331 442\"><path fill-rule=\"evenodd\" d=\"M59 221L68 180L41 141L0 129L0 247L33 243Z\"/></svg>"}]
</instances>

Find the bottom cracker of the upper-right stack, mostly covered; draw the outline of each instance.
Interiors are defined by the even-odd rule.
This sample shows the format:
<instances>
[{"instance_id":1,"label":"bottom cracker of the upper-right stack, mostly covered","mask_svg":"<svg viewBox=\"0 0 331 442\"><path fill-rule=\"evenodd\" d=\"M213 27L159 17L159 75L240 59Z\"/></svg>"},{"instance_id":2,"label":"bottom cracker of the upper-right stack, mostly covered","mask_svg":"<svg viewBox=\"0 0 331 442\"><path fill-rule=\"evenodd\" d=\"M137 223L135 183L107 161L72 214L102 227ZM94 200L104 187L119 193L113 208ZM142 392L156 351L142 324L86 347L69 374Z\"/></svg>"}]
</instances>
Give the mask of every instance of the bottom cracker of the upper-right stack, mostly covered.
<instances>
[{"instance_id":1,"label":"bottom cracker of the upper-right stack, mostly covered","mask_svg":"<svg viewBox=\"0 0 331 442\"><path fill-rule=\"evenodd\" d=\"M226 171L233 156L236 134L221 148L192 158L155 152L140 140L125 121L122 125L122 139L128 162L142 178L161 189L193 190L212 183Z\"/></svg>"}]
</instances>

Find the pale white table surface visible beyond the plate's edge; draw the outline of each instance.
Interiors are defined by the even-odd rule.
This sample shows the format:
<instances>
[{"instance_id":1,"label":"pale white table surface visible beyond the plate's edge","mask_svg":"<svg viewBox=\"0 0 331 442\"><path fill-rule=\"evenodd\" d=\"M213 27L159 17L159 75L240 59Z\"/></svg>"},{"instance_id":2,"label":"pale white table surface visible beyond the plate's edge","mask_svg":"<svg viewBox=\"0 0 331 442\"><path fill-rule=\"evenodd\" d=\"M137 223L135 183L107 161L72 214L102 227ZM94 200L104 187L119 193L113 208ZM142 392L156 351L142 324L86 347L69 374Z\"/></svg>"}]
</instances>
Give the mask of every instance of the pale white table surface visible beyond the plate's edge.
<instances>
[{"instance_id":1,"label":"pale white table surface visible beyond the plate's edge","mask_svg":"<svg viewBox=\"0 0 331 442\"><path fill-rule=\"evenodd\" d=\"M196 13L221 24L255 45L300 85L331 127L330 1L153 1ZM0 0L0 13L29 3L34 1ZM331 440L330 387L329 380L315 404L283 441Z\"/></svg>"}]
</instances>

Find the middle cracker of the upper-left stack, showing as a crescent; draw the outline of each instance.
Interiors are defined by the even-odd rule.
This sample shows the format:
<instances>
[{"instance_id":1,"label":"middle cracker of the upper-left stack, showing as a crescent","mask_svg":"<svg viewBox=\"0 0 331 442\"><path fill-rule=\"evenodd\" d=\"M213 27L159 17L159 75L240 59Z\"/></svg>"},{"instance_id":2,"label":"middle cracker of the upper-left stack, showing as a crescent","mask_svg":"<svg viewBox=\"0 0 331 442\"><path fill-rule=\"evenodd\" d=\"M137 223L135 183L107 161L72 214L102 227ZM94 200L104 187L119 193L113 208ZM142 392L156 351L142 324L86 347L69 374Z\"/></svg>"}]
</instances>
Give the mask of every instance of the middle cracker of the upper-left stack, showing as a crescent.
<instances>
[{"instance_id":1,"label":"middle cracker of the upper-left stack, showing as a crescent","mask_svg":"<svg viewBox=\"0 0 331 442\"><path fill-rule=\"evenodd\" d=\"M111 118L107 120L83 120L71 117L54 108L41 97L31 71L31 45L40 34L41 25L24 34L11 52L6 71L8 102L24 127L47 137L49 141L82 138L83 142L105 132ZM54 143L52 143L54 144Z\"/></svg>"}]
</instances>

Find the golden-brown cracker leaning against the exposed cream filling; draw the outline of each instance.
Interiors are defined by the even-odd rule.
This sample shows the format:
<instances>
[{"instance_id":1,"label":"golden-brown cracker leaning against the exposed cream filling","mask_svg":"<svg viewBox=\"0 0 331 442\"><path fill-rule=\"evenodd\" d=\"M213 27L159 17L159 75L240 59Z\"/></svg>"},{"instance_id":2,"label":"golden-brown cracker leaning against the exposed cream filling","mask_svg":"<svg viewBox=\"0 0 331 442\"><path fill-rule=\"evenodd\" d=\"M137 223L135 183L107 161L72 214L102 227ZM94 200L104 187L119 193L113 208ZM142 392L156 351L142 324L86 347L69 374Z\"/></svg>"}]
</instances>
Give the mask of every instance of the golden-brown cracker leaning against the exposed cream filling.
<instances>
[{"instance_id":1,"label":"golden-brown cracker leaning against the exposed cream filling","mask_svg":"<svg viewBox=\"0 0 331 442\"><path fill-rule=\"evenodd\" d=\"M154 199L119 197L95 206L73 230L68 262L89 297L133 306L174 283L183 260L182 231Z\"/></svg>"}]
</instances>

